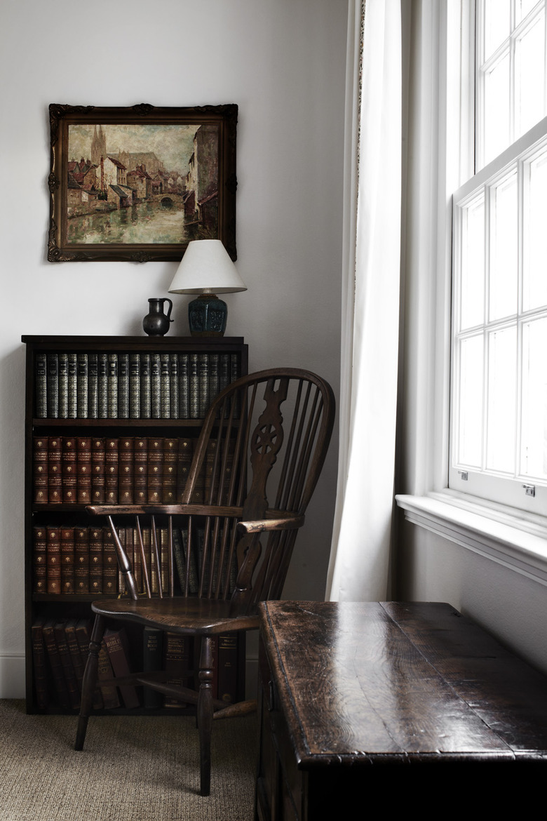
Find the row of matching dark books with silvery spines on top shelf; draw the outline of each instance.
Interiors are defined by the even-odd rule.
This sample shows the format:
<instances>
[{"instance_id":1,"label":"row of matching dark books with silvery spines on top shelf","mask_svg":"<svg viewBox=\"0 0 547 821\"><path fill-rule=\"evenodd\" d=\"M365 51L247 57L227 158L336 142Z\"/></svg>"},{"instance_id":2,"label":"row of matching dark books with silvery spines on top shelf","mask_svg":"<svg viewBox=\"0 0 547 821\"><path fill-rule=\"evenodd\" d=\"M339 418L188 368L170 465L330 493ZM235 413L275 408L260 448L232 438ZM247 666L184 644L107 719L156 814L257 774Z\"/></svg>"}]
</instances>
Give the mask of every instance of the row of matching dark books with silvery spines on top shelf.
<instances>
[{"instance_id":1,"label":"row of matching dark books with silvery spines on top shelf","mask_svg":"<svg viewBox=\"0 0 547 821\"><path fill-rule=\"evenodd\" d=\"M238 354L36 354L38 419L203 419L239 378Z\"/></svg>"}]
</instances>

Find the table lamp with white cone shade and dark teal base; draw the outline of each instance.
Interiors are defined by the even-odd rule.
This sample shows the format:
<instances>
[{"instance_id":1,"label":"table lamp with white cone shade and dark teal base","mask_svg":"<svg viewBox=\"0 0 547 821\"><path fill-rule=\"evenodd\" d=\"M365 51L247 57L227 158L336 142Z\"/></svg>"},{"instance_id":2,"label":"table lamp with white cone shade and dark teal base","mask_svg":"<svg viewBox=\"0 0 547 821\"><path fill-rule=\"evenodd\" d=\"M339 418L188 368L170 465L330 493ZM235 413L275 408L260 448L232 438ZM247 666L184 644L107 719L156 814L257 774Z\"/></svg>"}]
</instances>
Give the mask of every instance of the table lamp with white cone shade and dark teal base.
<instances>
[{"instance_id":1,"label":"table lamp with white cone shade and dark teal base","mask_svg":"<svg viewBox=\"0 0 547 821\"><path fill-rule=\"evenodd\" d=\"M235 264L220 240L193 240L180 260L169 287L170 294L199 294L188 306L190 333L194 337L221 337L228 308L217 294L247 291Z\"/></svg>"}]
</instances>

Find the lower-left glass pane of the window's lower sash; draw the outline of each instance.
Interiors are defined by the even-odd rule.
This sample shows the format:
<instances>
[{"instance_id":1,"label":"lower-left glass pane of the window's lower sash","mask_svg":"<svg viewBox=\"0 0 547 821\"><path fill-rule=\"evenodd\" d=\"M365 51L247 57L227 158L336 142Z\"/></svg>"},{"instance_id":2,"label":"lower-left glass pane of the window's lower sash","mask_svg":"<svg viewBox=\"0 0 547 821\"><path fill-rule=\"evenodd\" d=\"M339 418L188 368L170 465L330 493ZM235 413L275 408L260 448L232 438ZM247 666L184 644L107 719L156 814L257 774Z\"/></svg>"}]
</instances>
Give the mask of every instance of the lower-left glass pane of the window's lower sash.
<instances>
[{"instance_id":1,"label":"lower-left glass pane of the window's lower sash","mask_svg":"<svg viewBox=\"0 0 547 821\"><path fill-rule=\"evenodd\" d=\"M481 466L482 453L483 337L460 343L458 463Z\"/></svg>"}]
</instances>

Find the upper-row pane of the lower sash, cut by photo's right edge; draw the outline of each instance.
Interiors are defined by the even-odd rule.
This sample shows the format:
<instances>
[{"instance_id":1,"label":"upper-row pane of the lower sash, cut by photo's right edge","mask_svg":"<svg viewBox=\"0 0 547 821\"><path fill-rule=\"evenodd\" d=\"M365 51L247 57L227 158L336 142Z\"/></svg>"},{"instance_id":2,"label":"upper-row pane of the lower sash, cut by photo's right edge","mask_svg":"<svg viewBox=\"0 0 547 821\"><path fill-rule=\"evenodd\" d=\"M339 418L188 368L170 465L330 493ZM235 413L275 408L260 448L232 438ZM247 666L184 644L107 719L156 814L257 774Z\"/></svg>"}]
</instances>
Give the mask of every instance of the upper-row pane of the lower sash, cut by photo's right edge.
<instances>
[{"instance_id":1,"label":"upper-row pane of the lower sash, cut by photo's right edge","mask_svg":"<svg viewBox=\"0 0 547 821\"><path fill-rule=\"evenodd\" d=\"M547 153L529 166L524 212L524 310L547 305Z\"/></svg>"}]
</instances>

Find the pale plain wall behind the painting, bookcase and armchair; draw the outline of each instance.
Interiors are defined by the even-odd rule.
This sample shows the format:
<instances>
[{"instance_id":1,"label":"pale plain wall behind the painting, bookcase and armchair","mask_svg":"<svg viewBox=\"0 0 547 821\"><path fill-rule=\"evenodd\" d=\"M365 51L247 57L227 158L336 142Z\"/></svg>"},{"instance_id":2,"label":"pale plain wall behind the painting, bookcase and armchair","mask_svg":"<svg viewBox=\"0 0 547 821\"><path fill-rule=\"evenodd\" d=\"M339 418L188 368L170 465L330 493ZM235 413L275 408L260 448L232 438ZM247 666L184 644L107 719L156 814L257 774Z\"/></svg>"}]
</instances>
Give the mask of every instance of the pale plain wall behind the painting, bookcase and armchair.
<instances>
[{"instance_id":1,"label":"pale plain wall behind the painting, bookcase and armchair","mask_svg":"<svg viewBox=\"0 0 547 821\"><path fill-rule=\"evenodd\" d=\"M338 389L345 0L4 0L0 328L0 697L23 695L21 334L139 334L175 263L46 261L48 104L238 103L238 268L227 333L251 369ZM101 34L103 32L103 34ZM111 34L116 32L116 34ZM128 48L128 44L132 44ZM171 334L188 333L175 297ZM322 598L336 448L285 595Z\"/></svg>"}]
</instances>

